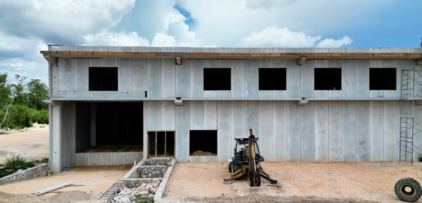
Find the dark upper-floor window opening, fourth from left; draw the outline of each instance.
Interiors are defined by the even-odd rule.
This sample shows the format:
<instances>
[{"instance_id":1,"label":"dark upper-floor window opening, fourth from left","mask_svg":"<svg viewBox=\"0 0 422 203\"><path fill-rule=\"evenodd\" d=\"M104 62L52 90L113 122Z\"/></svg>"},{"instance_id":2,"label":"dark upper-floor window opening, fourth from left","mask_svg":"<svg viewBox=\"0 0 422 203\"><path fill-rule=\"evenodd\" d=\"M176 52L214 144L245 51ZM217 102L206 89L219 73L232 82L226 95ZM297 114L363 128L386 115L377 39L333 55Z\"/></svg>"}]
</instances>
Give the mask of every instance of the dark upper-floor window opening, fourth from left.
<instances>
[{"instance_id":1,"label":"dark upper-floor window opening, fourth from left","mask_svg":"<svg viewBox=\"0 0 422 203\"><path fill-rule=\"evenodd\" d=\"M315 90L341 90L341 68L315 68Z\"/></svg>"}]
</instances>

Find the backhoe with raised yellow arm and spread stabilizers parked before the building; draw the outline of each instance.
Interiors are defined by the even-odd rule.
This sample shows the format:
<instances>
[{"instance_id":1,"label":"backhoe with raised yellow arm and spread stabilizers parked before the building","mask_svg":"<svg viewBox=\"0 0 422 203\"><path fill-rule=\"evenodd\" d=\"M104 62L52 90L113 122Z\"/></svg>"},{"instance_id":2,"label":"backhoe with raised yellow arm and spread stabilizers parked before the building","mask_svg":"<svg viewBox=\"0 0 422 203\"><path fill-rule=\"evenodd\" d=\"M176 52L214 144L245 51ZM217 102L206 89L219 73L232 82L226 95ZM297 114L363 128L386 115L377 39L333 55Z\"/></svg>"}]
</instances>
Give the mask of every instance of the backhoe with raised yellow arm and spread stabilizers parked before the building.
<instances>
[{"instance_id":1,"label":"backhoe with raised yellow arm and spread stabilizers parked before the building","mask_svg":"<svg viewBox=\"0 0 422 203\"><path fill-rule=\"evenodd\" d=\"M260 162L264 158L260 156L260 148L258 147L258 137L252 134L252 129L249 129L249 137L235 137L236 147L234 148L234 157L228 160L228 171L232 173L224 179L225 184L231 184L230 180L237 179L243 175L248 175L249 186L260 186L262 178L276 184L277 180L266 174L262 169ZM237 146L243 145L240 151L237 151Z\"/></svg>"}]
</instances>

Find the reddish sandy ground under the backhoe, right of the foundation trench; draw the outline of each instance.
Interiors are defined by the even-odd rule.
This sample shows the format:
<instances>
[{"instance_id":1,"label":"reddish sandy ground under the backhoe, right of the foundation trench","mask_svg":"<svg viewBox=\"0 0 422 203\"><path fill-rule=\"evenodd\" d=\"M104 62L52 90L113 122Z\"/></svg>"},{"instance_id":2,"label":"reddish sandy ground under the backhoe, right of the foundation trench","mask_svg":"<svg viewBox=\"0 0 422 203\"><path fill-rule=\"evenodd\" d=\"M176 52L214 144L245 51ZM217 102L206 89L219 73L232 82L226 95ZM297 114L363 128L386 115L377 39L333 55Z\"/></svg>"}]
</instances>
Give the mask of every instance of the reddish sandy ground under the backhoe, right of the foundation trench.
<instances>
[{"instance_id":1,"label":"reddish sandy ground under the backhoe, right of the foundation trench","mask_svg":"<svg viewBox=\"0 0 422 203\"><path fill-rule=\"evenodd\" d=\"M413 166L404 162L263 162L261 166L264 171L277 179L277 185L281 188L267 186L269 182L263 179L261 187L251 188L246 178L235 180L231 185L223 184L223 179L230 175L226 164L177 163L166 186L164 198L167 201L179 199L174 200L177 202L184 197L260 199L297 195L398 203L401 201L394 193L397 180L412 177L422 183L422 164L419 162Z\"/></svg>"}]
</instances>

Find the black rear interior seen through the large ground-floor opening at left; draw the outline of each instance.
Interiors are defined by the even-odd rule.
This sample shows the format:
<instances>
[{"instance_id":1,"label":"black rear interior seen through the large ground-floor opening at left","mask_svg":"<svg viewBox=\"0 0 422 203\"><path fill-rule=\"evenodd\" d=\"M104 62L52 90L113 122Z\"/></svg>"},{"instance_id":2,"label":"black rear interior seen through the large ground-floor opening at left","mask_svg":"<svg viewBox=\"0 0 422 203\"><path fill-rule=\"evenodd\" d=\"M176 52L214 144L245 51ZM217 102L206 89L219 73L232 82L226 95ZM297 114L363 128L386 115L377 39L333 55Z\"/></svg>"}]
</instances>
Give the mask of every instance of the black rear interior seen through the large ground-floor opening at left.
<instances>
[{"instance_id":1,"label":"black rear interior seen through the large ground-floor opening at left","mask_svg":"<svg viewBox=\"0 0 422 203\"><path fill-rule=\"evenodd\" d=\"M143 145L142 102L96 102L96 145Z\"/></svg>"}]
</instances>

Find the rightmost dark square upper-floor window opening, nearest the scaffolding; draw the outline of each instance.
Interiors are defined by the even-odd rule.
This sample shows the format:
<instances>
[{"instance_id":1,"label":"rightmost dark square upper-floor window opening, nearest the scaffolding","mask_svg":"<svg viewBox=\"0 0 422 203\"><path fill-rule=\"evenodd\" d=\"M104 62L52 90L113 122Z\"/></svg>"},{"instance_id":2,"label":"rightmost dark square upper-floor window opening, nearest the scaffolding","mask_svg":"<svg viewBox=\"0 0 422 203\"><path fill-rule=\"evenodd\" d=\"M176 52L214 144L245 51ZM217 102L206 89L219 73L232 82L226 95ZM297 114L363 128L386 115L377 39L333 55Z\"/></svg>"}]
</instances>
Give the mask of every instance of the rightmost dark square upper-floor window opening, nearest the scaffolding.
<instances>
[{"instance_id":1,"label":"rightmost dark square upper-floor window opening, nearest the scaffolding","mask_svg":"<svg viewBox=\"0 0 422 203\"><path fill-rule=\"evenodd\" d=\"M369 89L396 90L396 78L395 68L370 68Z\"/></svg>"}]
</instances>

